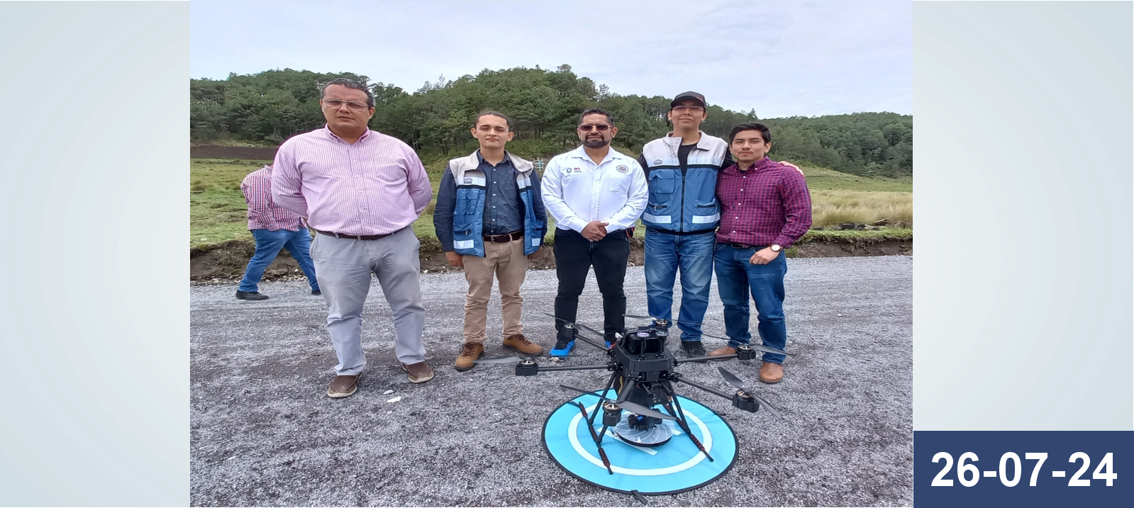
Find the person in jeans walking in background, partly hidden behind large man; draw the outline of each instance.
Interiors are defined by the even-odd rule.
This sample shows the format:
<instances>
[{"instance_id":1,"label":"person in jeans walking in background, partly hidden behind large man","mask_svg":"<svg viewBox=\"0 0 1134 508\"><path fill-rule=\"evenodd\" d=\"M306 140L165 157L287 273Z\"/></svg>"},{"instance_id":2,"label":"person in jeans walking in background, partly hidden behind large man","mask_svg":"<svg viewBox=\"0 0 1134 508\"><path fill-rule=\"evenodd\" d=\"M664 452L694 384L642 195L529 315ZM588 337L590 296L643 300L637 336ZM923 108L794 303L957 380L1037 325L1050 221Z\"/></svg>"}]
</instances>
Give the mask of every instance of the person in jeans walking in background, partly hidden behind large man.
<instances>
[{"instance_id":1,"label":"person in jeans walking in background, partly hidden behind large man","mask_svg":"<svg viewBox=\"0 0 1134 508\"><path fill-rule=\"evenodd\" d=\"M260 279L264 277L264 270L276 260L280 248L286 248L296 263L299 263L299 269L307 276L311 285L311 294L320 295L315 266L311 262L311 232L299 215L272 203L271 164L244 177L240 192L248 203L248 230L256 240L256 253L248 260L240 287L236 289L236 297L254 302L268 299L268 295L260 294Z\"/></svg>"}]
</instances>

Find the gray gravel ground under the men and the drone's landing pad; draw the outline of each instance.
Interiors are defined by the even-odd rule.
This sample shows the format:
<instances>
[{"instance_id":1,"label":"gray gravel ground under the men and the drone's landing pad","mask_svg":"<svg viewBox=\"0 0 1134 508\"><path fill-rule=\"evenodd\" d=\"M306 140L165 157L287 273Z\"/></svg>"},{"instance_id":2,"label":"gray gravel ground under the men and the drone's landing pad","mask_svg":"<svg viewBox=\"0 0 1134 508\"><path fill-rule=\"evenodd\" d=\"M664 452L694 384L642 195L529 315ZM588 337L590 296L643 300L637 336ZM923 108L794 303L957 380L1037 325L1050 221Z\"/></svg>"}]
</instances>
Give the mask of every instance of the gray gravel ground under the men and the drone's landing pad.
<instances>
[{"instance_id":1,"label":"gray gravel ground under the men and the drone's landing pad","mask_svg":"<svg viewBox=\"0 0 1134 508\"><path fill-rule=\"evenodd\" d=\"M911 506L912 256L789 260L786 379L761 386L787 422L733 409L736 466L705 488L649 498L652 506ZM465 281L422 276L428 361L437 378L409 383L397 367L390 312L373 286L363 340L370 364L359 391L324 393L335 354L322 299L305 282L265 282L266 302L232 297L231 285L191 291L191 502L194 506L635 506L628 496L564 474L540 431L573 397L559 383L591 387L594 372L516 378L509 366L456 372ZM524 286L530 338L549 345L555 272ZM641 268L626 280L629 310L645 312ZM705 331L722 335L713 289ZM499 305L490 308L488 354L503 355ZM601 323L593 278L581 321ZM841 314L841 315L840 315ZM721 344L705 340L709 347ZM569 362L590 363L585 349ZM754 380L759 362L726 364ZM684 364L691 379L726 389L716 364ZM382 395L393 389L393 395ZM393 397L400 400L389 403Z\"/></svg>"}]
</instances>

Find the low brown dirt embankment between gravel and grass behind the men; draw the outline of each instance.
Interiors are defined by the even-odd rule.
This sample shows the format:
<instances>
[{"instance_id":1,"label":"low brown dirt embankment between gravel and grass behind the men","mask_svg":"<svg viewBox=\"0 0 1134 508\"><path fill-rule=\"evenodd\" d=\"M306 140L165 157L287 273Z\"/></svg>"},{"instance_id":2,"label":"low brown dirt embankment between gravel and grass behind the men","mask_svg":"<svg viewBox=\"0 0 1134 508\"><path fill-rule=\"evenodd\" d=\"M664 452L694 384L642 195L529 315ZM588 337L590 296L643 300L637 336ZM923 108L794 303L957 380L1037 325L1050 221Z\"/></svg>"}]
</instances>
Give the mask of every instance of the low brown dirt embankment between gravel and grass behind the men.
<instances>
[{"instance_id":1,"label":"low brown dirt embankment between gravel and grass behind the men","mask_svg":"<svg viewBox=\"0 0 1134 508\"><path fill-rule=\"evenodd\" d=\"M438 273L457 271L441 252L441 245L435 238L422 238L421 263L422 272ZM909 240L880 240L873 243L812 242L798 246L794 257L841 257L841 256L885 256L913 254L914 243ZM239 279L255 253L252 240L228 240L208 247L189 249L189 280L200 282L220 282ZM551 246L543 248L543 255L531 262L534 270L556 268ZM644 253L642 239L635 238L631 244L631 266L641 266ZM264 280L302 279L303 272L298 263L287 251L280 251L276 261L264 271Z\"/></svg>"}]
</instances>

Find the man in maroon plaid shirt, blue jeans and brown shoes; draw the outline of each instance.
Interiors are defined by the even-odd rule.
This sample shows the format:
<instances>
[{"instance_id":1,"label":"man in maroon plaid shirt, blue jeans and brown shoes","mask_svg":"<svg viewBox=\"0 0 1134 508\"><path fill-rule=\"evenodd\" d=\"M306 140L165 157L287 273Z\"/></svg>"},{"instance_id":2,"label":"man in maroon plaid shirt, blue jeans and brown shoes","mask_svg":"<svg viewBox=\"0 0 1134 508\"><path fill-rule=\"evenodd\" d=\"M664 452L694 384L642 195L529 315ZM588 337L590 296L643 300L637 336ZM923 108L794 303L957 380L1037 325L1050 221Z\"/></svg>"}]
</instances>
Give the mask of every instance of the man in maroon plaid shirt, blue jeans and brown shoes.
<instances>
[{"instance_id":1,"label":"man in maroon plaid shirt, blue jeans and brown shoes","mask_svg":"<svg viewBox=\"0 0 1134 508\"><path fill-rule=\"evenodd\" d=\"M729 133L729 151L736 163L717 177L720 201L720 229L713 261L717 288L725 304L725 333L728 346L709 356L730 355L748 344L748 293L756 304L756 329L764 346L784 349L784 274L787 261L782 251L811 228L811 194L803 175L772 162L765 154L772 136L763 124L741 124ZM778 383L784 379L784 355L764 353L760 381Z\"/></svg>"}]
</instances>

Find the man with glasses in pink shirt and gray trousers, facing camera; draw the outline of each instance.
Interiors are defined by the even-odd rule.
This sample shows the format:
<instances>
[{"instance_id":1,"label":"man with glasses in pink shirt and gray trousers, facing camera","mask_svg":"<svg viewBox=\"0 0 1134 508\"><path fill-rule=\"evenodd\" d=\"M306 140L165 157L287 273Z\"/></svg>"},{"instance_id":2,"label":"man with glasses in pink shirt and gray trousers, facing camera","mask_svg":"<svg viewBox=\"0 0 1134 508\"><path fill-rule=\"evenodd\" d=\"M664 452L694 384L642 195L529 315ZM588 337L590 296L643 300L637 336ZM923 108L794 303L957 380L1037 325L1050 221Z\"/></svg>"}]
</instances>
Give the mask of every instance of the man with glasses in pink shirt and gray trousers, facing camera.
<instances>
[{"instance_id":1,"label":"man with glasses in pink shirt and gray trousers, facing camera","mask_svg":"<svg viewBox=\"0 0 1134 508\"><path fill-rule=\"evenodd\" d=\"M327 331L338 365L329 397L357 389L366 366L362 311L371 273L393 314L393 349L409 381L433 379L425 364L425 307L417 285L421 244L413 222L433 197L417 154L370 130L374 95L362 83L335 79L319 101L327 126L295 136L276 152L272 200L318 232L311 256L327 300Z\"/></svg>"}]
</instances>

